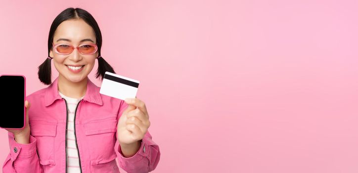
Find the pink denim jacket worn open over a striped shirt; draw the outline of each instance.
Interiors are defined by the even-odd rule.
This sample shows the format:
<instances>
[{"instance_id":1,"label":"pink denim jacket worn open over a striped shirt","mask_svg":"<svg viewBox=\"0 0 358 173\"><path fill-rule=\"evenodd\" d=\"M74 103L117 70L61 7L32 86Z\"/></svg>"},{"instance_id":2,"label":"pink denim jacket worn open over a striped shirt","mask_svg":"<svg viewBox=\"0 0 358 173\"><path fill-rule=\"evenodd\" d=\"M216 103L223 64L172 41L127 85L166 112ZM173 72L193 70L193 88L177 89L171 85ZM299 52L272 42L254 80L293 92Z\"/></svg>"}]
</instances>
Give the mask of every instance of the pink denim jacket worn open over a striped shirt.
<instances>
[{"instance_id":1,"label":"pink denim jacket worn open over a striped shirt","mask_svg":"<svg viewBox=\"0 0 358 173\"><path fill-rule=\"evenodd\" d=\"M30 143L19 144L8 132L10 154L3 173L65 173L66 172L66 102L58 94L58 78L36 91L27 100ZM160 159L159 146L147 132L138 152L125 158L117 140L117 122L128 104L102 95L89 79L85 97L77 105L75 133L82 173L119 173L119 166L128 173L153 171Z\"/></svg>"}]
</instances>

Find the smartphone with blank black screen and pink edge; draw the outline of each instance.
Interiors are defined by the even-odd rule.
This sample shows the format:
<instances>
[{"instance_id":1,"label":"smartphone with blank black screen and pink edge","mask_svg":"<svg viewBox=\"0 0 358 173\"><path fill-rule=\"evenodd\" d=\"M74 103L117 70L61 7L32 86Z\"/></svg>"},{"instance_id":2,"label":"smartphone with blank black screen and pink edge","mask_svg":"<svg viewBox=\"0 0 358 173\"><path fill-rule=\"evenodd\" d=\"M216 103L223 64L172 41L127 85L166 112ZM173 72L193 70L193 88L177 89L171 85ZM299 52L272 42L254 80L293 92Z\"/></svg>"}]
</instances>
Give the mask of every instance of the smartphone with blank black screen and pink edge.
<instances>
[{"instance_id":1,"label":"smartphone with blank black screen and pink edge","mask_svg":"<svg viewBox=\"0 0 358 173\"><path fill-rule=\"evenodd\" d=\"M23 75L0 76L0 128L22 129L26 122L26 79Z\"/></svg>"}]
</instances>

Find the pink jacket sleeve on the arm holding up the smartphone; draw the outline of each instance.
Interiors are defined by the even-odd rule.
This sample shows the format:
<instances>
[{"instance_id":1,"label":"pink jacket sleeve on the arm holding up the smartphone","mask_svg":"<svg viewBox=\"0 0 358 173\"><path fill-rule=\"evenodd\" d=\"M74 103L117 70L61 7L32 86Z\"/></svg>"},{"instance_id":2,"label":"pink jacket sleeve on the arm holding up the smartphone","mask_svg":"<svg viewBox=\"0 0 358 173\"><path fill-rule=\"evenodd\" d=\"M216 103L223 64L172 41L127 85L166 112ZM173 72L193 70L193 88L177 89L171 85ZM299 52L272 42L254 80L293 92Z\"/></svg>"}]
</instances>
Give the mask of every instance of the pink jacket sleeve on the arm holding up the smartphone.
<instances>
[{"instance_id":1,"label":"pink jacket sleeve on the arm holding up the smartphone","mask_svg":"<svg viewBox=\"0 0 358 173\"><path fill-rule=\"evenodd\" d=\"M29 144L15 141L8 131L10 153L2 166L3 173L43 173L36 150L36 138L30 135Z\"/></svg>"}]
</instances>

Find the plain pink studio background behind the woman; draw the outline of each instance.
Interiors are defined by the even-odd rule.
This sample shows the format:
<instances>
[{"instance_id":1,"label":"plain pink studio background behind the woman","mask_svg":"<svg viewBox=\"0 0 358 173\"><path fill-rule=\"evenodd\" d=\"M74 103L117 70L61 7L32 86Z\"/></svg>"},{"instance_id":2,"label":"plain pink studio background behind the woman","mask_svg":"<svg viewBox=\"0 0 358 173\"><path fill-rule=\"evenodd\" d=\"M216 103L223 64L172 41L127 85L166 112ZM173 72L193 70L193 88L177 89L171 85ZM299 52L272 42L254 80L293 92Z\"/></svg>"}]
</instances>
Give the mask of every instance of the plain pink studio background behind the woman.
<instances>
[{"instance_id":1,"label":"plain pink studio background behind the woman","mask_svg":"<svg viewBox=\"0 0 358 173\"><path fill-rule=\"evenodd\" d=\"M141 82L154 173L357 173L357 0L4 0L0 74L43 87L51 22L88 10ZM100 86L100 81L90 79ZM53 79L57 76L53 68ZM1 115L5 116L5 115ZM1 166L9 152L0 130Z\"/></svg>"}]
</instances>

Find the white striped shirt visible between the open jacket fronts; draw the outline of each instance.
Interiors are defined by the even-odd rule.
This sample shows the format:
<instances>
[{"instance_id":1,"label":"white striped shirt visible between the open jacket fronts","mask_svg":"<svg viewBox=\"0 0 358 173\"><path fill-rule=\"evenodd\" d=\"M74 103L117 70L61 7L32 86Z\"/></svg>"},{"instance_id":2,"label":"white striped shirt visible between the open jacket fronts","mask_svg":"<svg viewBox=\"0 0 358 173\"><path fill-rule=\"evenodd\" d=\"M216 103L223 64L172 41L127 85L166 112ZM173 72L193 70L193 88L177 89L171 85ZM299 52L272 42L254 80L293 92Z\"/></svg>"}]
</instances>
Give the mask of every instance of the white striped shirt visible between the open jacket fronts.
<instances>
[{"instance_id":1,"label":"white striped shirt visible between the open jacket fronts","mask_svg":"<svg viewBox=\"0 0 358 173\"><path fill-rule=\"evenodd\" d=\"M66 99L67 102L67 173L80 173L80 160L78 156L78 148L76 145L75 135L75 111L77 104L81 98L71 98L63 95L60 91L58 93L62 98Z\"/></svg>"}]
</instances>

